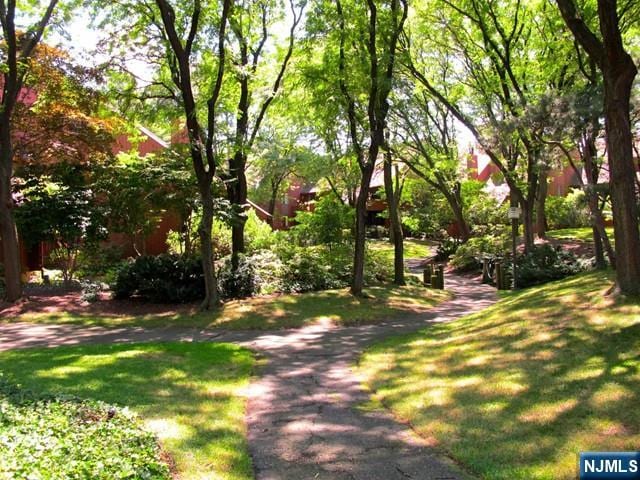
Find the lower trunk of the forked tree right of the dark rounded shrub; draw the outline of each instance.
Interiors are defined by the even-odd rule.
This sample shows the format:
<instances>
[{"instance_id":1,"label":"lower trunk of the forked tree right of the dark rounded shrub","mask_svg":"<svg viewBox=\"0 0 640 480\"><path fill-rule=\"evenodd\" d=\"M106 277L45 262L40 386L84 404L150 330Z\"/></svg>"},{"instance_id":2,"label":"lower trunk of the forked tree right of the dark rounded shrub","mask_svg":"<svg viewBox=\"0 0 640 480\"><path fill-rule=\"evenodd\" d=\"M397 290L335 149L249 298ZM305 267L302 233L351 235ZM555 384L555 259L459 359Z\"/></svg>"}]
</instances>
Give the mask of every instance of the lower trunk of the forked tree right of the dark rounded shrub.
<instances>
[{"instance_id":1,"label":"lower trunk of the forked tree right of the dark rounded shrub","mask_svg":"<svg viewBox=\"0 0 640 480\"><path fill-rule=\"evenodd\" d=\"M200 221L200 253L202 255L202 270L204 272L205 297L201 308L211 310L221 305L216 281L213 257L213 242L211 239L213 228L213 194L211 186L200 184L200 198L202 199L202 220Z\"/></svg>"}]
</instances>

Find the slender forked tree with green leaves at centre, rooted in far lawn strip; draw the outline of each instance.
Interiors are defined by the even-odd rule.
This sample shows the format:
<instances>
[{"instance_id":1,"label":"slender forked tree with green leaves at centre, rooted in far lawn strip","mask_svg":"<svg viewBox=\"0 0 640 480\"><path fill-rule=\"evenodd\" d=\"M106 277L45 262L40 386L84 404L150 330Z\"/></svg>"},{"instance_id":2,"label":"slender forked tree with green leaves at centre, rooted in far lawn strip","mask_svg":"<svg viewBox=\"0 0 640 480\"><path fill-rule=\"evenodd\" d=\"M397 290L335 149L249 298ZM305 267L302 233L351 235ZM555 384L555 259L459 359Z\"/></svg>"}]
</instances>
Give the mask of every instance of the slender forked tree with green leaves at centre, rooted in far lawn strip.
<instances>
[{"instance_id":1,"label":"slender forked tree with green leaves at centre, rooted in far lawn strip","mask_svg":"<svg viewBox=\"0 0 640 480\"><path fill-rule=\"evenodd\" d=\"M388 148L385 132L389 95L396 71L398 42L407 14L406 0L367 0L366 6L336 0L333 13L325 12L337 21L337 48L332 52L337 55L340 101L361 172L351 283L351 293L356 296L362 295L364 286L370 183L378 155Z\"/></svg>"}]
</instances>

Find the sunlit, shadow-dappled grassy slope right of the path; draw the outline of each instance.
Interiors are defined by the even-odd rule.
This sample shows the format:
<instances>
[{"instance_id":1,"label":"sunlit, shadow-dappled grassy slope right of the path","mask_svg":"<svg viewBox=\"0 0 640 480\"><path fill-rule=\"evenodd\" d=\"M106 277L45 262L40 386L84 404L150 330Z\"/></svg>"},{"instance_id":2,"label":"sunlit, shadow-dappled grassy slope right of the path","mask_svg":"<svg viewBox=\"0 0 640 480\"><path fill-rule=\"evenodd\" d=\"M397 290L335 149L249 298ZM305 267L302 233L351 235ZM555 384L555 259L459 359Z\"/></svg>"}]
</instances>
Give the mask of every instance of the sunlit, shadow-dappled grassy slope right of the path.
<instances>
[{"instance_id":1,"label":"sunlit, shadow-dappled grassy slope right of the path","mask_svg":"<svg viewBox=\"0 0 640 480\"><path fill-rule=\"evenodd\" d=\"M510 293L484 312L370 349L383 404L491 480L576 478L585 450L640 445L640 302L609 273Z\"/></svg>"}]
</instances>

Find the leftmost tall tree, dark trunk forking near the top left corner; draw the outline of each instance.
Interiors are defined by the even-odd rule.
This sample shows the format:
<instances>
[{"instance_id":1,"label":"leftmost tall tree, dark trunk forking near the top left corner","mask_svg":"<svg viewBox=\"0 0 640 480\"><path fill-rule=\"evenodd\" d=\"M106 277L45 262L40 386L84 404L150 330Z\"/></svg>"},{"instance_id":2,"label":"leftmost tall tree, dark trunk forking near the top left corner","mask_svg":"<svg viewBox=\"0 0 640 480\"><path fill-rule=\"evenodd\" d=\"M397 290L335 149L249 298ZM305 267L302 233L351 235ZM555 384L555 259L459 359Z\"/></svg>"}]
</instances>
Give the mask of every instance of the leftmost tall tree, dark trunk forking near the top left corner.
<instances>
[{"instance_id":1,"label":"leftmost tall tree, dark trunk forking near the top left corner","mask_svg":"<svg viewBox=\"0 0 640 480\"><path fill-rule=\"evenodd\" d=\"M20 251L13 215L14 200L11 195L13 177L13 115L22 91L30 59L51 21L59 0L46 3L43 12L37 12L38 20L20 31L16 28L15 0L0 0L0 23L3 45L1 52L2 98L0 99L0 237L6 284L6 298L10 302L22 296L20 282Z\"/></svg>"}]
</instances>

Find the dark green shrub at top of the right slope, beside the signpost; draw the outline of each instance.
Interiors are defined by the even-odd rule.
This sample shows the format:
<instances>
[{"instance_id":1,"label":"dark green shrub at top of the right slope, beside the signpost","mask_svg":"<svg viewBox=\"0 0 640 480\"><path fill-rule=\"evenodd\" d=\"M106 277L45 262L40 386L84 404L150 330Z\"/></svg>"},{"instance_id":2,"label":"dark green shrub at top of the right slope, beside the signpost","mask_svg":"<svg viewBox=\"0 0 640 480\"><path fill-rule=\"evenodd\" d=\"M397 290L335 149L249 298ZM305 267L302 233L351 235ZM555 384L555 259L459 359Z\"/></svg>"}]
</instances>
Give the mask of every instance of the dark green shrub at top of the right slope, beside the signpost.
<instances>
[{"instance_id":1,"label":"dark green shrub at top of the right slope, beside the signpost","mask_svg":"<svg viewBox=\"0 0 640 480\"><path fill-rule=\"evenodd\" d=\"M571 252L549 244L536 246L527 254L518 255L518 287L547 283L575 275L585 270L584 263Z\"/></svg>"}]
</instances>

